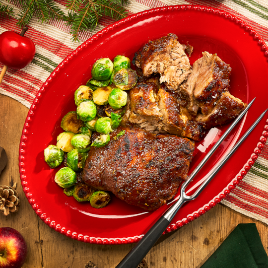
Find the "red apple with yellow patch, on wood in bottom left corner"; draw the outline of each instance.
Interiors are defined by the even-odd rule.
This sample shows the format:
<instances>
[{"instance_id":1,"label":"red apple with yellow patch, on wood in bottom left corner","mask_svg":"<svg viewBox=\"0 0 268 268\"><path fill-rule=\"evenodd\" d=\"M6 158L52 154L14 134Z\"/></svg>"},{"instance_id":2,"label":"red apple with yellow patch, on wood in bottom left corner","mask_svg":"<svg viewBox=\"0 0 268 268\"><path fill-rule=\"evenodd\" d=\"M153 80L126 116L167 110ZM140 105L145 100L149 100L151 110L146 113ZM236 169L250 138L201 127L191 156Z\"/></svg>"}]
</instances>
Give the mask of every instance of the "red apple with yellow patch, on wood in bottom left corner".
<instances>
[{"instance_id":1,"label":"red apple with yellow patch, on wood in bottom left corner","mask_svg":"<svg viewBox=\"0 0 268 268\"><path fill-rule=\"evenodd\" d=\"M27 257L27 245L15 229L0 228L0 268L20 268Z\"/></svg>"}]
</instances>

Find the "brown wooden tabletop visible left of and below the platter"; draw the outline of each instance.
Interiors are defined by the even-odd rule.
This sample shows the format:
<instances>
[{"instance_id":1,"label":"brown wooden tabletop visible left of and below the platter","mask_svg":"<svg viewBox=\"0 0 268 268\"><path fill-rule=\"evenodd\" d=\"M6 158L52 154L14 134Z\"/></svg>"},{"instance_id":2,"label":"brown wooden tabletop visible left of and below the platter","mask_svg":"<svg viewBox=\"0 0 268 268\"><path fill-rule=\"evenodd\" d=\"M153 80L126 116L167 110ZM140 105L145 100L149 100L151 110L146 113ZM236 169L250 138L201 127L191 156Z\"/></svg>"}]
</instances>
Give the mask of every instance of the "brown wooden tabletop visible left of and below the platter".
<instances>
[{"instance_id":1,"label":"brown wooden tabletop visible left of and below the platter","mask_svg":"<svg viewBox=\"0 0 268 268\"><path fill-rule=\"evenodd\" d=\"M0 94L0 146L8 163L0 185L17 182L19 211L0 213L0 227L18 230L28 245L24 268L84 268L91 261L98 268L114 268L134 245L93 245L72 240L46 225L28 203L20 184L18 151L29 109ZM12 186L12 185L11 185ZM146 256L150 268L199 268L239 223L256 223L268 253L268 226L222 204L181 229L162 236Z\"/></svg>"}]
</instances>

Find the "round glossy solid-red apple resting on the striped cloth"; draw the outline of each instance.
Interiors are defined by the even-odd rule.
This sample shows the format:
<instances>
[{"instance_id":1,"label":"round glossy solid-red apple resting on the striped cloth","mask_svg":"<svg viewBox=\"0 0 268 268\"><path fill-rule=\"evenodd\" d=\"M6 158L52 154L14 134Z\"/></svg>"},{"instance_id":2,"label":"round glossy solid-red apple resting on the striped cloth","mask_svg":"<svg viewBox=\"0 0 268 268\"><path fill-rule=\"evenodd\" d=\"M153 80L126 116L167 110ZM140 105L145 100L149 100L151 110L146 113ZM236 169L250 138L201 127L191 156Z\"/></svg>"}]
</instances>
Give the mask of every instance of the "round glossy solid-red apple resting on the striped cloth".
<instances>
[{"instance_id":1,"label":"round glossy solid-red apple resting on the striped cloth","mask_svg":"<svg viewBox=\"0 0 268 268\"><path fill-rule=\"evenodd\" d=\"M26 67L34 58L33 41L14 31L0 34L0 62L13 69Z\"/></svg>"}]
</instances>

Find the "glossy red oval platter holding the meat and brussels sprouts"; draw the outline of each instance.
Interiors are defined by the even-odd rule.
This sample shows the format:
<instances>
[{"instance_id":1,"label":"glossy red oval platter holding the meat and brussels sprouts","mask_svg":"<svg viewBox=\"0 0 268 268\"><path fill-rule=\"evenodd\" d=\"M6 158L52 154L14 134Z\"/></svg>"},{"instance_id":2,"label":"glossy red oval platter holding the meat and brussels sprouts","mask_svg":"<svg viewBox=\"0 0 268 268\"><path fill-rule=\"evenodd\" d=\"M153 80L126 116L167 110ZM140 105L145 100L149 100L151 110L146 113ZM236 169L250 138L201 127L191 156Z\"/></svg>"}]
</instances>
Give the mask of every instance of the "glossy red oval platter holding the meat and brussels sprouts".
<instances>
[{"instance_id":1,"label":"glossy red oval platter holding the meat and brussels sprouts","mask_svg":"<svg viewBox=\"0 0 268 268\"><path fill-rule=\"evenodd\" d=\"M149 40L168 33L176 34L181 43L194 47L191 64L201 57L203 51L217 53L229 64L232 67L231 94L247 103L257 97L242 123L226 138L189 186L190 192L267 108L266 44L255 30L229 13L204 6L175 5L134 14L103 29L80 45L52 72L31 106L21 136L19 168L23 190L39 217L56 231L88 243L133 243L170 205L146 212L112 196L105 208L93 208L88 203L67 197L54 182L60 167L50 169L44 161L44 149L49 144L56 144L58 134L63 132L61 119L68 111L75 110L74 91L91 77L93 63L99 58L113 59L117 55L132 59ZM262 135L266 124L266 119L263 119L201 195L179 210L166 232L199 217L234 189L264 146ZM204 146L204 141L197 143L197 147L201 144L203 149L207 149L201 152L196 148L190 173L227 127L216 129L215 138L208 145Z\"/></svg>"}]
</instances>

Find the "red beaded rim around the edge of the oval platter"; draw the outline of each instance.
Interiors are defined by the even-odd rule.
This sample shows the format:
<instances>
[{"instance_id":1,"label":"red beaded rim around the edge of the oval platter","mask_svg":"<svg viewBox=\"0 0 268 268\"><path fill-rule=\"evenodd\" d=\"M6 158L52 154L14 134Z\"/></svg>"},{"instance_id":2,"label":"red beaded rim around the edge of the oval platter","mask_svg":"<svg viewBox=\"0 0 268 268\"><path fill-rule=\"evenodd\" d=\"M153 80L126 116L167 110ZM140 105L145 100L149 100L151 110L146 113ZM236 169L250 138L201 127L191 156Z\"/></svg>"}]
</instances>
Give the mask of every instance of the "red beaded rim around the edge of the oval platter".
<instances>
[{"instance_id":1,"label":"red beaded rim around the edge of the oval platter","mask_svg":"<svg viewBox=\"0 0 268 268\"><path fill-rule=\"evenodd\" d=\"M265 41L261 38L261 36L257 33L256 30L254 30L250 25L248 25L246 22L244 22L242 19L236 17L235 15L232 15L226 11L223 11L221 9L207 7L207 6L201 6L201 5L172 5L172 6L165 6L165 7L157 7L145 11L141 11L139 13L133 14L128 16L125 19L122 19L118 22L115 22L103 30L99 31L95 35L93 35L91 38L89 38L87 41L85 41L83 44L81 44L76 50L74 50L71 54L69 54L63 62L55 68L55 70L51 73L51 75L48 77L46 82L42 85L40 88L36 98L33 101L33 104L28 112L22 135L20 140L20 148L19 148L19 172L20 172L20 179L21 184L23 187L23 191L26 195L27 200L37 213L37 215L52 229L56 230L57 232L60 232L67 237L70 237L72 239L76 239L78 241L83 241L86 243L92 243L92 244L104 244L104 245L111 245L111 244L129 244L129 243L135 243L140 240L140 238L143 235L134 236L134 237L125 237L125 238L100 238L100 237L92 237L87 236L83 234L78 234L76 232L71 232L70 230L67 230L66 227L61 226L60 223L55 222L50 217L46 216L45 211L42 211L42 209L39 208L38 203L35 202L35 200L32 198L31 190L27 187L27 178L24 175L24 153L25 153L25 141L27 140L27 129L30 126L31 118L34 117L34 111L38 107L39 98L42 97L42 93L46 90L46 87L48 87L49 83L57 76L57 73L61 71L61 69L69 64L71 60L74 58L74 56L77 56L77 54L84 48L86 48L88 45L94 45L94 41L96 41L99 37L102 37L103 35L109 33L110 30L114 29L115 27L120 26L121 24L125 24L126 22L133 21L137 18L142 17L143 15L148 14L155 14L158 12L165 12L165 11L178 11L178 10L186 10L186 9L193 9L196 11L201 12L213 12L214 14L224 16L226 19L229 19L233 21L234 23L240 24L241 27L245 29L245 31L248 31L250 35L253 36L253 40L258 42L258 45L260 46L261 51L264 52L265 57L268 57L268 47L265 43ZM266 121L268 124L268 120ZM258 142L256 148L254 149L254 152L251 155L251 158L246 162L246 164L243 166L243 168L240 170L240 172L234 177L234 179L220 192L216 197L214 197L211 201L200 207L197 211L188 214L186 218L183 218L182 220L176 221L176 223L171 223L167 229L164 231L163 234L169 233L171 231L174 231L185 224L191 222L192 220L200 217L205 212L210 210L212 207L214 207L217 203L219 203L221 200L223 200L235 187L239 184L239 182L245 177L245 175L248 173L250 168L253 166L255 161L258 158L258 155L260 155L262 149L265 146L265 143L267 141L268 137L268 125L265 125L264 131L262 133L262 136L260 137L260 141Z\"/></svg>"}]
</instances>

